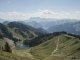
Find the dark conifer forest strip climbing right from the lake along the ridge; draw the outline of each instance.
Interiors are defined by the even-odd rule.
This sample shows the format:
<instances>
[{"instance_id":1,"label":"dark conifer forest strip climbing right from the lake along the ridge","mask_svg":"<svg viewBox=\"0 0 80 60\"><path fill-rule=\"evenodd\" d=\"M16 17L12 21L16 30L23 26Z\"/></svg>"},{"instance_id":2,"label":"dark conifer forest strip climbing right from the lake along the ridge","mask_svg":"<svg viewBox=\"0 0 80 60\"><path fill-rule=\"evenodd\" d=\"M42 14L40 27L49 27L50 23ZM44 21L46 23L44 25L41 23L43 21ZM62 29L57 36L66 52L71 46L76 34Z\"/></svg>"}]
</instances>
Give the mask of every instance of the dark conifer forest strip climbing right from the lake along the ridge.
<instances>
[{"instance_id":1,"label":"dark conifer forest strip climbing right from the lake along the ridge","mask_svg":"<svg viewBox=\"0 0 80 60\"><path fill-rule=\"evenodd\" d=\"M53 34L41 35L39 37L32 39L31 41L28 41L26 44L31 47L34 47L34 46L37 46L37 45L51 39L52 37L54 37L56 35L60 35L61 33L65 33L65 32L55 32Z\"/></svg>"}]
</instances>

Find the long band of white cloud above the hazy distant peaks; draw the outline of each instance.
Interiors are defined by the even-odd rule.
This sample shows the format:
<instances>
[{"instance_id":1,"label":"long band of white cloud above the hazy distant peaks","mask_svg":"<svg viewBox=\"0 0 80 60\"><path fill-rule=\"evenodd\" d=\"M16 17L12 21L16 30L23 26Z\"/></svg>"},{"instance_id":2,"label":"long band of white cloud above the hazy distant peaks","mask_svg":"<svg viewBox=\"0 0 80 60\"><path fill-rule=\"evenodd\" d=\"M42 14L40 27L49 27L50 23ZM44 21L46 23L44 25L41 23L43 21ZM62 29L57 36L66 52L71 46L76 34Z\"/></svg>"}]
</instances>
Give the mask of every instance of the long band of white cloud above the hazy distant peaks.
<instances>
[{"instance_id":1,"label":"long band of white cloud above the hazy distant peaks","mask_svg":"<svg viewBox=\"0 0 80 60\"><path fill-rule=\"evenodd\" d=\"M0 18L6 20L27 20L31 17L52 19L80 19L80 11L63 12L63 11L39 10L33 13L0 12Z\"/></svg>"}]
</instances>

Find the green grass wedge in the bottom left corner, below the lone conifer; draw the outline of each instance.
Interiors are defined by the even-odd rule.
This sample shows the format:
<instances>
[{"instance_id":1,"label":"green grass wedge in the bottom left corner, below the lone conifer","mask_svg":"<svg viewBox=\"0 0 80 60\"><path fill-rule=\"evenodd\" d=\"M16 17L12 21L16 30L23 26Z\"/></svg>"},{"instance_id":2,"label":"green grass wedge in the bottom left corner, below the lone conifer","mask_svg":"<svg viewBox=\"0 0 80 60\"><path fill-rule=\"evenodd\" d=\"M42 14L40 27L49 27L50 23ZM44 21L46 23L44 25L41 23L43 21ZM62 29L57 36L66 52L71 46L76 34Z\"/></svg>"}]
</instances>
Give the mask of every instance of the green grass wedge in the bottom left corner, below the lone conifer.
<instances>
[{"instance_id":1,"label":"green grass wedge in the bottom left corner, below the lone conifer","mask_svg":"<svg viewBox=\"0 0 80 60\"><path fill-rule=\"evenodd\" d=\"M12 53L0 51L0 60L33 60L28 57L17 56Z\"/></svg>"}]
</instances>

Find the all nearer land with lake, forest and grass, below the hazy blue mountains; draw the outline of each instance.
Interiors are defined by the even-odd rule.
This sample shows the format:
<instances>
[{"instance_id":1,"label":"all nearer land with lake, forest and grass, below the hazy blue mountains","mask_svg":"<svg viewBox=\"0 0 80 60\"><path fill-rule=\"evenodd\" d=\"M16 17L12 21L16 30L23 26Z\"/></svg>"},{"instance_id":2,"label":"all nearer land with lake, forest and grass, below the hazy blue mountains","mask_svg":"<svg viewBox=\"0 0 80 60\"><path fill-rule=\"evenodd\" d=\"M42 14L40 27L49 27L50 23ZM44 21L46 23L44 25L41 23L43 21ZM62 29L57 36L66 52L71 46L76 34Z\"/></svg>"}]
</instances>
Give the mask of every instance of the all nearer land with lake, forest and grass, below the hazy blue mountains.
<instances>
[{"instance_id":1,"label":"all nearer land with lake, forest and grass, below the hazy blue mountains","mask_svg":"<svg viewBox=\"0 0 80 60\"><path fill-rule=\"evenodd\" d=\"M80 35L44 31L16 21L0 23L0 60L80 59Z\"/></svg>"}]
</instances>

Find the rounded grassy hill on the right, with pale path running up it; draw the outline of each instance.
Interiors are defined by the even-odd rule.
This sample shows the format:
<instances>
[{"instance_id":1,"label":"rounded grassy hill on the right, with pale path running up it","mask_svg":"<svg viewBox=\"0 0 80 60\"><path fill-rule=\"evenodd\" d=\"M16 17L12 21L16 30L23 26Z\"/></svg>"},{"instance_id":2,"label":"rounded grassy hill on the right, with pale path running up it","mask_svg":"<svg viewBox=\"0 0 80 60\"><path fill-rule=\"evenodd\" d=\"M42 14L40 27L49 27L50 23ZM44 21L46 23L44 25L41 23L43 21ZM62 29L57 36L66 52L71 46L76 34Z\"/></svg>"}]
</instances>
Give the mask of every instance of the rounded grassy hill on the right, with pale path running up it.
<instances>
[{"instance_id":1,"label":"rounded grassy hill on the right, with pale path running up it","mask_svg":"<svg viewBox=\"0 0 80 60\"><path fill-rule=\"evenodd\" d=\"M54 52L58 38L58 50ZM40 60L80 59L80 40L69 35L59 35L32 48L31 53Z\"/></svg>"}]
</instances>

